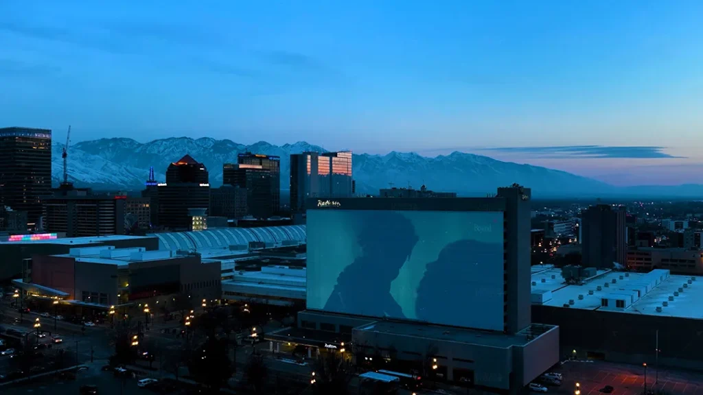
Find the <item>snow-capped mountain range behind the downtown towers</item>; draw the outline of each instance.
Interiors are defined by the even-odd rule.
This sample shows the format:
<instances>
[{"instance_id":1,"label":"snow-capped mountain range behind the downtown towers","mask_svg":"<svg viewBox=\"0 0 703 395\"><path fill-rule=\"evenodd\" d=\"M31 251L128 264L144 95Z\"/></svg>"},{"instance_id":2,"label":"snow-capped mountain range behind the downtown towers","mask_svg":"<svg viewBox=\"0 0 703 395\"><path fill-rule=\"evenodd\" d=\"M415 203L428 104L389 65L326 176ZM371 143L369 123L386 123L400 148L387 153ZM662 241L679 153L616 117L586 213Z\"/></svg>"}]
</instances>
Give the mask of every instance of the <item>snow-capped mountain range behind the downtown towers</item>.
<instances>
[{"instance_id":1,"label":"snow-capped mountain range behind the downtown towers","mask_svg":"<svg viewBox=\"0 0 703 395\"><path fill-rule=\"evenodd\" d=\"M53 142L52 170L56 184L63 174L63 144ZM324 152L304 141L272 145L259 141L252 145L214 138L165 138L139 143L131 138L100 138L71 145L68 175L77 186L95 189L141 190L153 166L157 181L165 179L170 162L189 154L205 164L212 186L222 183L222 164L236 163L244 152L280 156L281 189L288 190L289 155L305 151ZM520 183L534 195L563 195L606 192L612 187L565 171L529 164L501 162L490 157L454 152L450 155L423 157L416 153L392 152L387 155L354 155L354 179L359 193L378 193L389 185L457 192L460 195L494 193L499 186Z\"/></svg>"}]
</instances>

